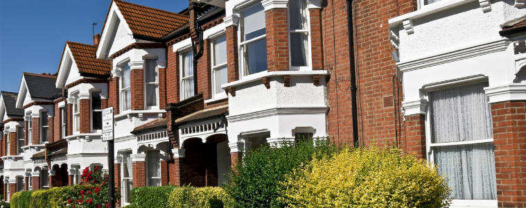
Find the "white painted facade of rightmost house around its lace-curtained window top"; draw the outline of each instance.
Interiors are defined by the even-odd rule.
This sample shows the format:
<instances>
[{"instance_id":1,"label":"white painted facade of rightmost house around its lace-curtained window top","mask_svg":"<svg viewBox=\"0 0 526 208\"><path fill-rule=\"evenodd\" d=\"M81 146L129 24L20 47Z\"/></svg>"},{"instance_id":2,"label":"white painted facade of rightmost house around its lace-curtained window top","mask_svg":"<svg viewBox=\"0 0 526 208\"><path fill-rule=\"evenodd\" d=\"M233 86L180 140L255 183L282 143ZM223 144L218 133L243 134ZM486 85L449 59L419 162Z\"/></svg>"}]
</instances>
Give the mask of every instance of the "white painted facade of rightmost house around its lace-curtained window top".
<instances>
[{"instance_id":1,"label":"white painted facade of rightmost house around its lace-curtained window top","mask_svg":"<svg viewBox=\"0 0 526 208\"><path fill-rule=\"evenodd\" d=\"M419 2L419 10L389 19L403 83L403 112L427 114L426 143L431 137L427 104L432 90L487 81L489 103L526 99L526 83L514 83L526 58L514 53L514 47L525 37L499 35L502 24L525 15L516 1L442 0ZM429 145L427 150L432 160ZM497 200L453 200L452 207L497 207Z\"/></svg>"}]
</instances>

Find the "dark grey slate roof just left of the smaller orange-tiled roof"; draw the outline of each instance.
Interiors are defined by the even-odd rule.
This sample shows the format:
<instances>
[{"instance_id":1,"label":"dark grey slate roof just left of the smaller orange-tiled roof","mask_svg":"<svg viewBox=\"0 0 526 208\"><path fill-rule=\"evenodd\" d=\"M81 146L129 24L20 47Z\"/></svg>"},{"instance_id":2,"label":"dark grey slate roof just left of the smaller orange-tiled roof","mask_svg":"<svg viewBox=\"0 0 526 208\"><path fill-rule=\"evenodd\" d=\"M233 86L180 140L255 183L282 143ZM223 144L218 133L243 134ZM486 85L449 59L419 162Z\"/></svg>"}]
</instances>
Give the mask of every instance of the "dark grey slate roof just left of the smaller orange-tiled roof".
<instances>
[{"instance_id":1,"label":"dark grey slate roof just left of the smaller orange-tiled roof","mask_svg":"<svg viewBox=\"0 0 526 208\"><path fill-rule=\"evenodd\" d=\"M56 76L24 72L24 79L32 98L53 99L62 95L62 89L55 88Z\"/></svg>"}]
</instances>

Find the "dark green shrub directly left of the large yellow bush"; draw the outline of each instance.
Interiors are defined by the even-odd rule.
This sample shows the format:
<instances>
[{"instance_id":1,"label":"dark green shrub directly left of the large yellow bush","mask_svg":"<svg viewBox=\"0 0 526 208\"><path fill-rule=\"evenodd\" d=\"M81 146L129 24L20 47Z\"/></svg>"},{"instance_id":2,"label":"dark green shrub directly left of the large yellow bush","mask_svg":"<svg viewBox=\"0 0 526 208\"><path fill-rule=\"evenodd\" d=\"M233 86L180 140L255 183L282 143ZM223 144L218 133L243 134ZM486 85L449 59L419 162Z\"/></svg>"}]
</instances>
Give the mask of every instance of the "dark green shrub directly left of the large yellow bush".
<instances>
[{"instance_id":1,"label":"dark green shrub directly left of the large yellow bush","mask_svg":"<svg viewBox=\"0 0 526 208\"><path fill-rule=\"evenodd\" d=\"M280 148L262 146L251 150L231 171L231 183L225 187L237 207L283 207L277 192L285 175L306 164L313 155L329 155L335 150L328 139L298 141Z\"/></svg>"}]
</instances>

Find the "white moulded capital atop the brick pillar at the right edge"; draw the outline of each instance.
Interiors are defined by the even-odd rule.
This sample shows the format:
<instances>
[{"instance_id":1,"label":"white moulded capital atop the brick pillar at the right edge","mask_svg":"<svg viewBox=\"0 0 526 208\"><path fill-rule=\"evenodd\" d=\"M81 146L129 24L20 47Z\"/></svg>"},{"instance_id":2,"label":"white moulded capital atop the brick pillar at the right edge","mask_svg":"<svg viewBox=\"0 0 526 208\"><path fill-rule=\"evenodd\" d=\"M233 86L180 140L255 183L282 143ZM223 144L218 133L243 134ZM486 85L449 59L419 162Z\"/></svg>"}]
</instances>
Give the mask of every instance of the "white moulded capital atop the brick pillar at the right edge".
<instances>
[{"instance_id":1,"label":"white moulded capital atop the brick pillar at the right edge","mask_svg":"<svg viewBox=\"0 0 526 208\"><path fill-rule=\"evenodd\" d=\"M526 83L509 83L507 85L484 87L489 103L506 101L526 101Z\"/></svg>"}]
</instances>

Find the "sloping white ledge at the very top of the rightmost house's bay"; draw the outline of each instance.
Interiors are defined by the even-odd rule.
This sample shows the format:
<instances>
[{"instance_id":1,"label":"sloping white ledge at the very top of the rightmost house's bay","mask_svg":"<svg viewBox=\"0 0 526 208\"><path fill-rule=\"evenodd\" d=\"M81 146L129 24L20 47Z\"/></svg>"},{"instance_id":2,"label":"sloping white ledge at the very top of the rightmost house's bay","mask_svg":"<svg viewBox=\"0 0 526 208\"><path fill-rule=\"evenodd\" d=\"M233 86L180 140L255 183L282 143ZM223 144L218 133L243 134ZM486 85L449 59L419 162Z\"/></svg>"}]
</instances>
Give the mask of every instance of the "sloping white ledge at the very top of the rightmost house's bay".
<instances>
[{"instance_id":1,"label":"sloping white ledge at the very top of the rightmost house's bay","mask_svg":"<svg viewBox=\"0 0 526 208\"><path fill-rule=\"evenodd\" d=\"M442 12L444 10L450 10L451 8L455 8L457 6L461 6L465 3L470 3L472 1L475 0L442 0L437 1L435 3L430 3L429 5L422 6L421 8L419 8L419 10L416 10L414 12L409 12L405 15L389 19L389 26L394 27L399 24L402 24L402 21L406 19L418 19L421 17L426 17L428 15Z\"/></svg>"}]
</instances>

